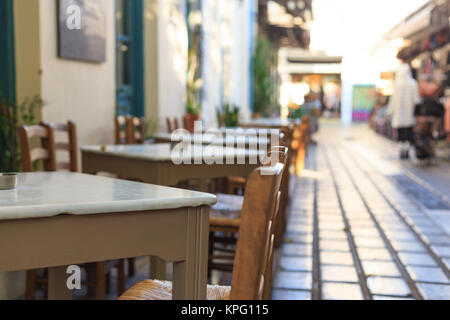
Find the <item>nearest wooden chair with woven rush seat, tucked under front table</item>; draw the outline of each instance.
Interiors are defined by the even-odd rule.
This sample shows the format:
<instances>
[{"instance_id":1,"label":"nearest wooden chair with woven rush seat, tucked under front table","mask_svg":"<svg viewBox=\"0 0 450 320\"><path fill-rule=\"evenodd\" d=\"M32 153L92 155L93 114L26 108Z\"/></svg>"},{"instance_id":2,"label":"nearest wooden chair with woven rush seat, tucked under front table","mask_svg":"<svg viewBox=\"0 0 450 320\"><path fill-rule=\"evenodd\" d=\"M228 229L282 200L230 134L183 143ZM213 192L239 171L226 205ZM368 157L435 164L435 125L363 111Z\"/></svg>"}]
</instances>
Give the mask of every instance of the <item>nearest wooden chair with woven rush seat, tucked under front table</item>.
<instances>
[{"instance_id":1,"label":"nearest wooden chair with woven rush seat, tucked under front table","mask_svg":"<svg viewBox=\"0 0 450 320\"><path fill-rule=\"evenodd\" d=\"M248 178L241 215L231 287L208 286L210 300L261 300L270 293L273 261L273 221L279 202L284 165L256 169ZM172 283L146 280L125 292L120 300L170 300Z\"/></svg>"}]
</instances>

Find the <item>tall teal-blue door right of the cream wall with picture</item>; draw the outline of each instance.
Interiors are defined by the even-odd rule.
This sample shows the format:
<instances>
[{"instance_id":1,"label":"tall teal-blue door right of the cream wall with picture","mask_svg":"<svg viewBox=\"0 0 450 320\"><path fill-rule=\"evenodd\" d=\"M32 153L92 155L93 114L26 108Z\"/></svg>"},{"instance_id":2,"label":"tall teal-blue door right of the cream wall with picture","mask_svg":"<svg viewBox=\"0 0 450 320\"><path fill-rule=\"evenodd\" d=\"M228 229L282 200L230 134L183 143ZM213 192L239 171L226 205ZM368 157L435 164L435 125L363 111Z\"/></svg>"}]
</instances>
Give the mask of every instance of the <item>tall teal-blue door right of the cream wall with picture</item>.
<instances>
[{"instance_id":1,"label":"tall teal-blue door right of the cream wall with picture","mask_svg":"<svg viewBox=\"0 0 450 320\"><path fill-rule=\"evenodd\" d=\"M144 116L143 0L116 0L117 114Z\"/></svg>"}]
</instances>

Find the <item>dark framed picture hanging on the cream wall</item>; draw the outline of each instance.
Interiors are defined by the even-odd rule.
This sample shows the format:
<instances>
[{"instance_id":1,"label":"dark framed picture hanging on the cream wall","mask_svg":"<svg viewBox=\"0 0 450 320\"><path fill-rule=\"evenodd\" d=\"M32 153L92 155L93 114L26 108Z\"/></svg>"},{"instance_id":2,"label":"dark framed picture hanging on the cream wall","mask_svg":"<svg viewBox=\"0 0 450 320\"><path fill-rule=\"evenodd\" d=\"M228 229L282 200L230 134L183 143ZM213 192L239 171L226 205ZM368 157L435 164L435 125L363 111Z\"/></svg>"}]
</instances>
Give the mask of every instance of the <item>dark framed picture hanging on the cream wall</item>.
<instances>
[{"instance_id":1,"label":"dark framed picture hanging on the cream wall","mask_svg":"<svg viewBox=\"0 0 450 320\"><path fill-rule=\"evenodd\" d=\"M58 56L105 62L109 0L58 0Z\"/></svg>"}]
</instances>

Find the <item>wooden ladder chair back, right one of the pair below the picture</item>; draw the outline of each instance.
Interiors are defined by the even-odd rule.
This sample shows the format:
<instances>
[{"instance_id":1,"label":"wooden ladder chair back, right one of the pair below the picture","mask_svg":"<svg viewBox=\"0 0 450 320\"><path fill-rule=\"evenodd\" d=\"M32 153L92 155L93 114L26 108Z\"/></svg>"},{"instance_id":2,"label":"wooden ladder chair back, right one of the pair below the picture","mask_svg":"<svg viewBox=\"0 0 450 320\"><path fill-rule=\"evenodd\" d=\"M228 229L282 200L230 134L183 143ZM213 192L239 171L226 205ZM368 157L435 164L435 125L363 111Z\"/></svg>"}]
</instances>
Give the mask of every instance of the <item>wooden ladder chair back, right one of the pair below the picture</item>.
<instances>
[{"instance_id":1,"label":"wooden ladder chair back, right one of the pair below the picture","mask_svg":"<svg viewBox=\"0 0 450 320\"><path fill-rule=\"evenodd\" d=\"M55 153L64 151L69 154L69 161L58 162L56 159L56 171L68 170L71 172L78 172L78 142L77 142L77 125L74 121L67 121L67 123L46 123L41 122L41 125L52 131ZM63 132L67 134L66 142L56 142L56 132Z\"/></svg>"}]
</instances>

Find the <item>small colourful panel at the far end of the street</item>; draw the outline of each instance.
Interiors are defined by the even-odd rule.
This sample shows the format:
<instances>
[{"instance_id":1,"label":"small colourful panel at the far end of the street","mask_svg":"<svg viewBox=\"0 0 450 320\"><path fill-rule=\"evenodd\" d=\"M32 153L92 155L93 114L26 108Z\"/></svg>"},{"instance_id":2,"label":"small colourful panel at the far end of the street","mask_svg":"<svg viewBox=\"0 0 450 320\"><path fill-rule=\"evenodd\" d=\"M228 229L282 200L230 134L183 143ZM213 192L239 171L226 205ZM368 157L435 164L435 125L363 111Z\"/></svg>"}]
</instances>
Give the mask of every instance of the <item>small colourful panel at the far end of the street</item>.
<instances>
[{"instance_id":1,"label":"small colourful panel at the far end of the street","mask_svg":"<svg viewBox=\"0 0 450 320\"><path fill-rule=\"evenodd\" d=\"M374 85L353 86L353 121L367 121L377 103L377 88Z\"/></svg>"}]
</instances>

